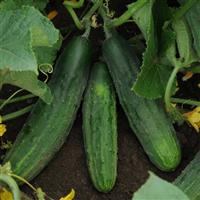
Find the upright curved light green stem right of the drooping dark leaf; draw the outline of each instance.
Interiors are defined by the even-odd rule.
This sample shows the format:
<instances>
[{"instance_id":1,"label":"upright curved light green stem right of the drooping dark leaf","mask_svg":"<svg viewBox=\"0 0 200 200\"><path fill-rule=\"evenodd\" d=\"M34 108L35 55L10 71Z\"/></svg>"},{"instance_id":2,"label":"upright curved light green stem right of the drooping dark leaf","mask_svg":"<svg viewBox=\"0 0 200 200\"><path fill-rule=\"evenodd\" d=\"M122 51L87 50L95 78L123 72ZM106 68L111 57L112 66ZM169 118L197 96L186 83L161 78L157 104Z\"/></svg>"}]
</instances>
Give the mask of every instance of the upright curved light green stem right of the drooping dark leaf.
<instances>
[{"instance_id":1,"label":"upright curved light green stem right of the drooping dark leaf","mask_svg":"<svg viewBox=\"0 0 200 200\"><path fill-rule=\"evenodd\" d=\"M171 111L171 93L172 93L172 86L173 86L173 83L176 79L176 75L179 71L179 67L175 67L174 70L172 71L171 73L171 76L168 80L168 83L167 83L167 87L166 87L166 90L165 90L165 106L166 106L166 109L168 112Z\"/></svg>"}]
</instances>

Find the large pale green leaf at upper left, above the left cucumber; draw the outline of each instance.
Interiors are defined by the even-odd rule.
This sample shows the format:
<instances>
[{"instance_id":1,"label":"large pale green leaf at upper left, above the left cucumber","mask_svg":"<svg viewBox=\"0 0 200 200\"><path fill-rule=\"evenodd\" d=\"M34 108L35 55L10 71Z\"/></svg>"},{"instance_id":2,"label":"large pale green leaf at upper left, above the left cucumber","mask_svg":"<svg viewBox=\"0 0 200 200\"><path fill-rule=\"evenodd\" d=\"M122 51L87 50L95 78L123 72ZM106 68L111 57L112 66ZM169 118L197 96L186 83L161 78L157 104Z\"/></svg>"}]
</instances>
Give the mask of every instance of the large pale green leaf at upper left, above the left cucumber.
<instances>
[{"instance_id":1,"label":"large pale green leaf at upper left, above the left cucumber","mask_svg":"<svg viewBox=\"0 0 200 200\"><path fill-rule=\"evenodd\" d=\"M59 31L33 7L2 10L0 19L0 86L19 86L50 103L50 89L37 79L38 65L53 63L60 47Z\"/></svg>"}]
</instances>

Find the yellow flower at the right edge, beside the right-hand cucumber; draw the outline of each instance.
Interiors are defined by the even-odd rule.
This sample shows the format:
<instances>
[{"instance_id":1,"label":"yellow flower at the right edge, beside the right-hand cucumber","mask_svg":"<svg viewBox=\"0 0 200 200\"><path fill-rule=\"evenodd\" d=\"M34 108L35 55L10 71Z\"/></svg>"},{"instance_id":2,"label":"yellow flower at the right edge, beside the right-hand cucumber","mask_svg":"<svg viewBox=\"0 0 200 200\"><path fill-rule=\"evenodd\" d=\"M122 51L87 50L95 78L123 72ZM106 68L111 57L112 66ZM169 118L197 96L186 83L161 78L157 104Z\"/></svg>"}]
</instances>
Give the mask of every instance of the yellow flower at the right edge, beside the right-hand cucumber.
<instances>
[{"instance_id":1,"label":"yellow flower at the right edge, beside the right-hand cucumber","mask_svg":"<svg viewBox=\"0 0 200 200\"><path fill-rule=\"evenodd\" d=\"M193 111L183 114L188 122L194 127L194 129L200 132L200 106L196 107Z\"/></svg>"}]
</instances>

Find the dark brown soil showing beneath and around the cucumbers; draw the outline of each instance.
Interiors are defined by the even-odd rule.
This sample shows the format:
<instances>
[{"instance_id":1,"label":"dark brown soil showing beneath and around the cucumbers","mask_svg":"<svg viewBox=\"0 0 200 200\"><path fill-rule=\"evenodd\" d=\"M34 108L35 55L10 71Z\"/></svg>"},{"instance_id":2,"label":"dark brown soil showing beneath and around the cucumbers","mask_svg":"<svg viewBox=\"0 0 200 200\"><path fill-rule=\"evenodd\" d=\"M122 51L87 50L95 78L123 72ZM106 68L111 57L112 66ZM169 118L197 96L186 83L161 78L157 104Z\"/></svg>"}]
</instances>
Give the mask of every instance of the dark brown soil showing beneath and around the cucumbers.
<instances>
[{"instance_id":1,"label":"dark brown soil showing beneath and around the cucumbers","mask_svg":"<svg viewBox=\"0 0 200 200\"><path fill-rule=\"evenodd\" d=\"M126 3L128 3L128 1L126 1ZM121 5L122 9L123 6L124 5ZM65 27L67 26L68 21L61 20L62 14L66 11L63 10L60 4L55 4L53 1L47 8L47 11L51 10L52 7L56 7L60 11L59 16L54 21L56 26L59 28L62 27L62 30L66 31ZM113 5L113 7L117 9L120 5ZM121 9L119 10L119 13L120 12L122 12ZM131 29L129 26L123 26L119 31L124 34L124 30L126 30L126 37L128 37L128 34L130 34L129 30ZM100 35L100 33L98 33L98 31L94 33L94 41L95 34ZM70 37L68 39L70 39ZM67 41L64 43L66 42ZM96 41L97 47L100 42L101 37L99 41ZM99 49L97 48L95 51L96 57L98 51ZM199 80L199 78L199 76L196 76L189 80L187 84L181 83L183 86L182 88L185 89L181 89L178 95L180 97L188 97L189 95L193 98L199 98L199 96L197 96L198 92L195 92L194 89L197 85L197 79ZM193 90L188 88L193 88ZM11 86L4 86L0 94L1 97L8 97L14 89L15 88ZM33 101L35 100L28 100L23 102L23 104L13 104L8 106L5 109L5 113L19 109L22 106L24 107L25 104L30 104ZM41 187L53 199L59 199L61 196L66 195L71 188L74 188L76 191L76 200L130 200L133 192L135 192L147 179L148 171L153 171L160 177L168 181L173 181L200 149L199 135L197 135L187 124L181 126L177 125L175 128L182 146L182 162L174 172L161 172L148 160L140 143L135 137L133 131L130 129L127 118L119 103L117 107L119 133L118 178L114 189L110 193L102 194L97 192L90 181L83 146L81 109L77 114L76 121L66 143L49 165L31 183L35 187ZM25 115L17 120L12 120L7 124L8 133L6 134L5 140L9 139L13 141L16 138L17 133L20 131L27 119L27 116L28 115ZM26 186L23 186L22 190L32 196L32 191ZM34 197L32 196L32 198Z\"/></svg>"}]
</instances>

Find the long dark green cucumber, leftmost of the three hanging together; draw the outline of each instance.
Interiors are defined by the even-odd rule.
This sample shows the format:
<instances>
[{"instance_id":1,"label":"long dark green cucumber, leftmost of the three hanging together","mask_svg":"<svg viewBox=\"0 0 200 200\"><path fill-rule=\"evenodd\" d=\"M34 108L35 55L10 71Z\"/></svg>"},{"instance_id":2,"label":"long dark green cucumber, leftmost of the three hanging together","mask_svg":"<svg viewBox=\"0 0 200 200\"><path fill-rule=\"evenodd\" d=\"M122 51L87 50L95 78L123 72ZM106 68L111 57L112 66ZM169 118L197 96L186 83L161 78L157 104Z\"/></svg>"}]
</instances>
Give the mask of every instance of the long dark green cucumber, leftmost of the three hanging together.
<instances>
[{"instance_id":1,"label":"long dark green cucumber, leftmost of the three hanging together","mask_svg":"<svg viewBox=\"0 0 200 200\"><path fill-rule=\"evenodd\" d=\"M6 154L4 163L11 163L13 173L32 180L65 142L87 84L90 57L90 42L81 36L64 49L49 82L52 103L38 100Z\"/></svg>"}]
</instances>

